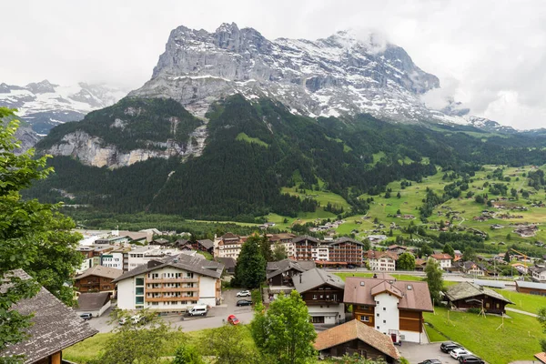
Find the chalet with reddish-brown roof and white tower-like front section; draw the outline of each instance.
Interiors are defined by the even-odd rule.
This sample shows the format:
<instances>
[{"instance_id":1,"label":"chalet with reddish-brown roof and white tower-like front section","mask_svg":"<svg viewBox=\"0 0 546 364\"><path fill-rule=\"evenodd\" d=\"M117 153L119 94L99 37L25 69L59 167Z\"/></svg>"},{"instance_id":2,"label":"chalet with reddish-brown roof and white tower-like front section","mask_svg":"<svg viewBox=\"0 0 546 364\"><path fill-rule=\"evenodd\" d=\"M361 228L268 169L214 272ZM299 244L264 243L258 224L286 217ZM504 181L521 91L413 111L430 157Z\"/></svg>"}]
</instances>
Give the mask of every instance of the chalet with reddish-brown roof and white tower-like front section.
<instances>
[{"instance_id":1,"label":"chalet with reddish-brown roof and white tower-like front section","mask_svg":"<svg viewBox=\"0 0 546 364\"><path fill-rule=\"evenodd\" d=\"M386 274L348 277L343 302L353 306L353 319L389 335L393 342L420 342L422 313L433 311L427 282L396 280Z\"/></svg>"}]
</instances>

